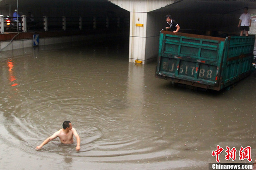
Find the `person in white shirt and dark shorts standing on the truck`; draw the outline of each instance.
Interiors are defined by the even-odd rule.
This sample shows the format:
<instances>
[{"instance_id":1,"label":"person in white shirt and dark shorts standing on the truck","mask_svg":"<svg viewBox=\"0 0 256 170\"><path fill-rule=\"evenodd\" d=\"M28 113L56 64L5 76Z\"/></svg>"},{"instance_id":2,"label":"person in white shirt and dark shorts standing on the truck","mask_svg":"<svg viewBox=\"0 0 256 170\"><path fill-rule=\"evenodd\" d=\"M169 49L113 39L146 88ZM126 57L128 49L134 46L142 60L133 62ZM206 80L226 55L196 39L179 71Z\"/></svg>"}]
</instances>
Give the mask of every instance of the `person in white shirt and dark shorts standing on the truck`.
<instances>
[{"instance_id":1,"label":"person in white shirt and dark shorts standing on the truck","mask_svg":"<svg viewBox=\"0 0 256 170\"><path fill-rule=\"evenodd\" d=\"M240 36L243 36L245 30L245 36L248 36L248 31L252 23L252 16L248 13L248 7L244 7L244 13L239 17L238 28L240 27Z\"/></svg>"}]
</instances>

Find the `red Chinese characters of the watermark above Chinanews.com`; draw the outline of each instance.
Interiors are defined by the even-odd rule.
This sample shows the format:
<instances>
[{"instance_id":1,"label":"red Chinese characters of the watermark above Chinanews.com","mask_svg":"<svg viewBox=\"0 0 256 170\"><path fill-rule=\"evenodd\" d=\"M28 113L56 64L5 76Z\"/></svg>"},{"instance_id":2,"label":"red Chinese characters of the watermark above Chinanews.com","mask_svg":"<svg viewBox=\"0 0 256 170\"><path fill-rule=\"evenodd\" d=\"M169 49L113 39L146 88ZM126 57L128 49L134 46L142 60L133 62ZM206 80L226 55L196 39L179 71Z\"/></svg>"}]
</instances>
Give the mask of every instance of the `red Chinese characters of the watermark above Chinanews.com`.
<instances>
[{"instance_id":1,"label":"red Chinese characters of the watermark above Chinanews.com","mask_svg":"<svg viewBox=\"0 0 256 170\"><path fill-rule=\"evenodd\" d=\"M239 150L239 160L242 161L244 159L247 159L249 162L252 161L252 157L251 157L251 147L241 147ZM217 145L217 149L213 150L211 155L212 156L216 156L216 161L220 162L219 156L220 154L224 151L224 149L222 147L220 147L219 145ZM227 161L229 161L230 159L232 159L232 161L236 160L236 149L235 147L233 147L232 149L230 147L226 147L226 155L225 155L225 159Z\"/></svg>"}]
</instances>

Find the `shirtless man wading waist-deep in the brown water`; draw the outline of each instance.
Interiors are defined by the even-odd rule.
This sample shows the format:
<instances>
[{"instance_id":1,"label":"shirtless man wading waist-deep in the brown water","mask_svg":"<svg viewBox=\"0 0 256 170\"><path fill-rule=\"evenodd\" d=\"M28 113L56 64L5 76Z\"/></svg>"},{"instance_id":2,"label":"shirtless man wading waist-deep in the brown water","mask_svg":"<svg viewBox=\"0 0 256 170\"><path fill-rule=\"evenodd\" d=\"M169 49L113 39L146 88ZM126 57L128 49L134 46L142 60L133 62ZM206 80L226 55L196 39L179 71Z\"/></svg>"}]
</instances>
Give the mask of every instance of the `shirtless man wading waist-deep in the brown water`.
<instances>
[{"instance_id":1,"label":"shirtless man wading waist-deep in the brown water","mask_svg":"<svg viewBox=\"0 0 256 170\"><path fill-rule=\"evenodd\" d=\"M52 136L49 138L45 139L42 144L36 147L36 150L40 150L45 144L48 144L49 141L59 137L60 142L62 144L73 144L73 135L77 139L77 147L76 151L80 150L80 137L77 134L77 131L72 128L71 122L70 121L64 121L63 122L63 129L60 129L59 131L55 132Z\"/></svg>"}]
</instances>

